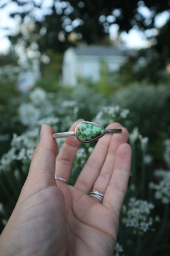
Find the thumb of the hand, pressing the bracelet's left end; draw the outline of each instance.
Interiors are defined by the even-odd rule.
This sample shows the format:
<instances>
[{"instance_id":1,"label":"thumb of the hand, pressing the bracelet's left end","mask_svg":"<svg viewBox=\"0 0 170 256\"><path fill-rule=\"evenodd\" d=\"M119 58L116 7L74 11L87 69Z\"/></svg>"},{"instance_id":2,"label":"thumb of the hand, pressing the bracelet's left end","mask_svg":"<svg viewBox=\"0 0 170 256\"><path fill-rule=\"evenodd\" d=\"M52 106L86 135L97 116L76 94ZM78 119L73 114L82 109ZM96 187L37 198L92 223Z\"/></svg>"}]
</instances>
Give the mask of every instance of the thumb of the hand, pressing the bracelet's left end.
<instances>
[{"instance_id":1,"label":"thumb of the hand, pressing the bracelet's left end","mask_svg":"<svg viewBox=\"0 0 170 256\"><path fill-rule=\"evenodd\" d=\"M22 195L28 196L47 187L56 186L54 177L56 168L57 143L52 137L53 129L49 125L41 126L40 142L33 152L29 174Z\"/></svg>"}]
</instances>

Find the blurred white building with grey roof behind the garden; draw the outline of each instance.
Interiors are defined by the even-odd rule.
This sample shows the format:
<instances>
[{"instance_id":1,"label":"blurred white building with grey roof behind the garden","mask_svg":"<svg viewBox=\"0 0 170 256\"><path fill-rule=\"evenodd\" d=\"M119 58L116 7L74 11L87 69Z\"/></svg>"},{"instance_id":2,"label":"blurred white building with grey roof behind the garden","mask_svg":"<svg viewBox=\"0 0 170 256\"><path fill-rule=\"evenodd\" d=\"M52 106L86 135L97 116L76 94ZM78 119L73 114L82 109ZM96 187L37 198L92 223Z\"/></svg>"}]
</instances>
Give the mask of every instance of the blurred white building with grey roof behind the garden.
<instances>
[{"instance_id":1,"label":"blurred white building with grey roof behind the garden","mask_svg":"<svg viewBox=\"0 0 170 256\"><path fill-rule=\"evenodd\" d=\"M75 86L78 77L100 79L101 60L105 61L109 72L116 72L125 63L130 51L111 46L80 46L67 49L63 56L63 84Z\"/></svg>"}]
</instances>

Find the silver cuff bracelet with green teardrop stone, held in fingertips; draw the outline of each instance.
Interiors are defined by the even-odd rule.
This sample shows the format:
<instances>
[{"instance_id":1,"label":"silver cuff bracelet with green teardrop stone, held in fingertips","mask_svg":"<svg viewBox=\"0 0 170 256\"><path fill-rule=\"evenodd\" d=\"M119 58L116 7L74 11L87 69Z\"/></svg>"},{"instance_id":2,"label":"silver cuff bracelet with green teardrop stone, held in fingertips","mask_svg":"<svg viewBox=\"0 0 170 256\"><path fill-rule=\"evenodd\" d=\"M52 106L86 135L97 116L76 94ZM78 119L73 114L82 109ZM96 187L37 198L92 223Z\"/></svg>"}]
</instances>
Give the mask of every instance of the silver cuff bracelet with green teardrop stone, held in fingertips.
<instances>
[{"instance_id":1,"label":"silver cuff bracelet with green teardrop stone, held in fingertips","mask_svg":"<svg viewBox=\"0 0 170 256\"><path fill-rule=\"evenodd\" d=\"M75 131L65 133L54 133L53 138L76 137L81 143L94 142L105 134L122 133L122 129L104 129L102 126L93 122L80 122Z\"/></svg>"}]
</instances>

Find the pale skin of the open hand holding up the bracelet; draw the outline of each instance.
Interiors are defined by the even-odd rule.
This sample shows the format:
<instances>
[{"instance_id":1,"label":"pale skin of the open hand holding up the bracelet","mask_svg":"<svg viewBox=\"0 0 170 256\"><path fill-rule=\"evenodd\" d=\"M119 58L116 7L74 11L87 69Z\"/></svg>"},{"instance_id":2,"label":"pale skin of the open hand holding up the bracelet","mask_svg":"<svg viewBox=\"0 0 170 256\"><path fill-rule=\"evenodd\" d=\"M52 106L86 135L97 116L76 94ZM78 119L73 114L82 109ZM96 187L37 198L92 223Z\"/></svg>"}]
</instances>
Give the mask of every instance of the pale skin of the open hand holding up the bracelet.
<instances>
[{"instance_id":1,"label":"pale skin of the open hand holding up the bracelet","mask_svg":"<svg viewBox=\"0 0 170 256\"><path fill-rule=\"evenodd\" d=\"M54 175L69 180L80 143L67 138L57 155L52 128L41 127L27 180L0 237L1 256L113 256L131 147L124 127L111 123L108 128L121 128L122 133L99 139L72 187ZM103 204L88 196L92 188L104 193Z\"/></svg>"}]
</instances>

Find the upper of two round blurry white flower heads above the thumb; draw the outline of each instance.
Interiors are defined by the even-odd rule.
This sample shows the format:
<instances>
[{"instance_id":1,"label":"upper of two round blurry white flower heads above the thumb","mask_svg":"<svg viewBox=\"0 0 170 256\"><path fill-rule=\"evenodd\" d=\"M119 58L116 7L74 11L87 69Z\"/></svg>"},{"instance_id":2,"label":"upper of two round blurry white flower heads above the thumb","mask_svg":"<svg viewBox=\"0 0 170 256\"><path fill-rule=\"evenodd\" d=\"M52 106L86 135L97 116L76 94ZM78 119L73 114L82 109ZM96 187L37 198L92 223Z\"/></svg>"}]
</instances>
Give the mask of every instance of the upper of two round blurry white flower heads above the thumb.
<instances>
[{"instance_id":1,"label":"upper of two round blurry white flower heads above the thumb","mask_svg":"<svg viewBox=\"0 0 170 256\"><path fill-rule=\"evenodd\" d=\"M35 88L30 94L32 104L35 106L44 105L46 102L46 92L42 88Z\"/></svg>"}]
</instances>

